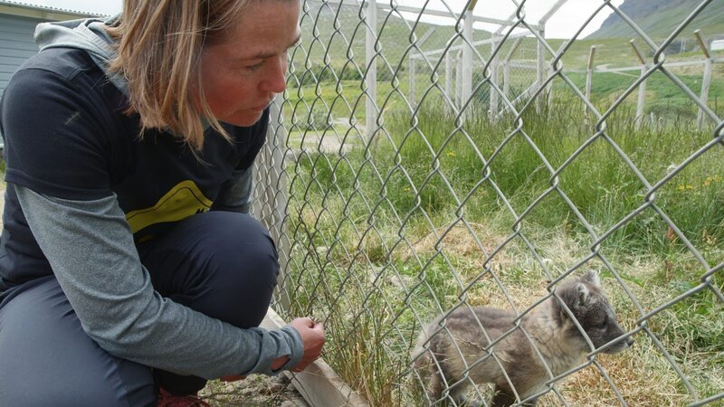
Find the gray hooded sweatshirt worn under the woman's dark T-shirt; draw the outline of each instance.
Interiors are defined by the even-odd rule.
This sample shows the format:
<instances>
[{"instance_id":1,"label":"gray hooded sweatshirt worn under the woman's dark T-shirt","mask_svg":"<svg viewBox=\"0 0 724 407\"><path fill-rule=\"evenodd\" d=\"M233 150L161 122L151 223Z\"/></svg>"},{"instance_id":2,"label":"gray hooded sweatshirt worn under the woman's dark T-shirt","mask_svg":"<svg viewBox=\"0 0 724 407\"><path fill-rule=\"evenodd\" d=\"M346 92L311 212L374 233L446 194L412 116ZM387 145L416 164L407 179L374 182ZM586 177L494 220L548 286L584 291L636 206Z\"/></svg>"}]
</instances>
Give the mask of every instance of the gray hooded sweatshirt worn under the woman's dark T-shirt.
<instances>
[{"instance_id":1,"label":"gray hooded sweatshirt worn under the woman's dark T-shirt","mask_svg":"<svg viewBox=\"0 0 724 407\"><path fill-rule=\"evenodd\" d=\"M106 23L87 19L39 24L36 43L41 50L81 49L108 72L114 51L104 29ZM123 78L107 76L125 93ZM232 193L224 195L224 207L248 211L251 175L246 173L235 174L237 182ZM37 194L20 185L8 187L15 188L33 236L83 329L111 355L207 379L276 374L300 362L302 341L293 327L241 329L161 297L138 259L116 195L71 201ZM81 261L71 254L74 252L88 254ZM117 267L99 270L96 264ZM284 355L290 361L272 371L271 363Z\"/></svg>"}]
</instances>

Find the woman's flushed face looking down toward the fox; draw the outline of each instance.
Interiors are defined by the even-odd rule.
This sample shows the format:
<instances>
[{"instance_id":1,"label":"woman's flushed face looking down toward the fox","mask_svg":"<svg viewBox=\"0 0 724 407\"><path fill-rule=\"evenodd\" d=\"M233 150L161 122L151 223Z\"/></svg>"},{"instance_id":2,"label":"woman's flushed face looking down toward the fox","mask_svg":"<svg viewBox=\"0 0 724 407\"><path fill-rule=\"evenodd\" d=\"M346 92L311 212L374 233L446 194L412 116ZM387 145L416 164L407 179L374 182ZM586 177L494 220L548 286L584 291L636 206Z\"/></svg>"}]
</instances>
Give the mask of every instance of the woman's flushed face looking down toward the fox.
<instances>
[{"instance_id":1,"label":"woman's flushed face looking down toward the fox","mask_svg":"<svg viewBox=\"0 0 724 407\"><path fill-rule=\"evenodd\" d=\"M252 0L224 38L201 56L201 82L214 117L251 126L286 88L287 50L297 43L300 5Z\"/></svg>"}]
</instances>

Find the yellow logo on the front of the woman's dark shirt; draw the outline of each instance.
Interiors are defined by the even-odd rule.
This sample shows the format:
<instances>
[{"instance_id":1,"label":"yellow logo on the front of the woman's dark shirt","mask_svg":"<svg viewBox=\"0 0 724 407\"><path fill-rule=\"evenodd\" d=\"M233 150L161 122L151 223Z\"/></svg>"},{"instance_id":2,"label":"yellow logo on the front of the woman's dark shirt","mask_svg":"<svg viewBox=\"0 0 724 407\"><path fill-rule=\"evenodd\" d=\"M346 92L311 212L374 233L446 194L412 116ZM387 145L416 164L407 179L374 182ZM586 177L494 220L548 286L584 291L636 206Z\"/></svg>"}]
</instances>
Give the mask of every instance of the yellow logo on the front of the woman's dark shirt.
<instances>
[{"instance_id":1,"label":"yellow logo on the front of the woman's dark shirt","mask_svg":"<svg viewBox=\"0 0 724 407\"><path fill-rule=\"evenodd\" d=\"M213 202L206 198L194 181L184 181L163 195L157 204L126 213L131 232L162 222L178 222L196 213L206 212Z\"/></svg>"}]
</instances>

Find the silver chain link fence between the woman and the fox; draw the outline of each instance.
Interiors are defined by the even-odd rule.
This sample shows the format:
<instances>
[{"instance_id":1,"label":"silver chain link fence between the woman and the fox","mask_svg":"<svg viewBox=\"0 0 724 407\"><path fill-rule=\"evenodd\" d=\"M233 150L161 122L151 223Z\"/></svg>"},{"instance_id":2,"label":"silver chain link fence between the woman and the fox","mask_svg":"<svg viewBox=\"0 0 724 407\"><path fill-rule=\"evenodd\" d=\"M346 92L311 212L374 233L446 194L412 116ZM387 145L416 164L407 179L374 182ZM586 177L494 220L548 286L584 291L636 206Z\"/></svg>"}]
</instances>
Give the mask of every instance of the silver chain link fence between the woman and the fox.
<instances>
[{"instance_id":1,"label":"silver chain link fence between the woman and the fox","mask_svg":"<svg viewBox=\"0 0 724 407\"><path fill-rule=\"evenodd\" d=\"M576 320L580 363L559 372L545 350L519 356L516 369L538 364L545 378L510 402L721 405L724 70L712 51L702 97L700 71L679 63L700 54L681 43L721 2L692 3L660 38L600 1L595 13L613 11L636 34L570 41L545 36L565 0L538 21L525 1L508 3L510 18L496 19L482 0L474 13L302 2L288 90L256 168L254 212L280 251L275 309L321 320L325 360L371 405L460 405L462 383L469 403L490 405L475 366L502 368L508 338L535 335L525 321L596 270L618 339L635 344L606 355L614 341L593 345ZM640 63L631 40L642 70L615 71ZM684 52L667 55L672 43ZM452 313L479 306L515 317L491 343L490 327L468 321L481 339L469 355ZM413 355L433 320L457 353L424 341L423 355L460 367L437 376L440 392ZM514 388L518 373L498 384Z\"/></svg>"}]
</instances>

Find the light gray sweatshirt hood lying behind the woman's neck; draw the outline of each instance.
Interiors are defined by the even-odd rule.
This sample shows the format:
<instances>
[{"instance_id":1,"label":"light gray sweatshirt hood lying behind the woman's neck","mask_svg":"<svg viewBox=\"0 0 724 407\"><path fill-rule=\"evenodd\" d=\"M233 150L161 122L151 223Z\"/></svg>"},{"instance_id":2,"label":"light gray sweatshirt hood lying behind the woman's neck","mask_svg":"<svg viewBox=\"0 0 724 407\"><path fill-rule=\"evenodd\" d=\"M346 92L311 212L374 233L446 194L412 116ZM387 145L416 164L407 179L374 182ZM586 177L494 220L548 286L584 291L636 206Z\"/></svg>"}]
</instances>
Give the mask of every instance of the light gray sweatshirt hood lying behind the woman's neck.
<instances>
[{"instance_id":1,"label":"light gray sweatshirt hood lying behind the woman's neck","mask_svg":"<svg viewBox=\"0 0 724 407\"><path fill-rule=\"evenodd\" d=\"M106 28L115 24L119 15L108 19L86 18L57 23L41 23L35 28L35 43L43 51L48 48L76 48L88 52L90 58L110 81L128 96L128 82L118 73L109 71L116 57L113 39Z\"/></svg>"}]
</instances>

